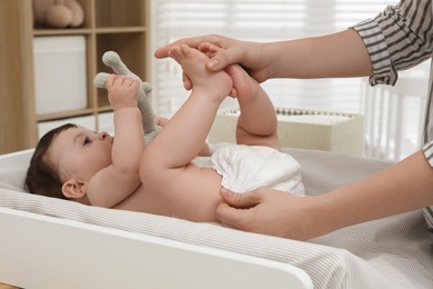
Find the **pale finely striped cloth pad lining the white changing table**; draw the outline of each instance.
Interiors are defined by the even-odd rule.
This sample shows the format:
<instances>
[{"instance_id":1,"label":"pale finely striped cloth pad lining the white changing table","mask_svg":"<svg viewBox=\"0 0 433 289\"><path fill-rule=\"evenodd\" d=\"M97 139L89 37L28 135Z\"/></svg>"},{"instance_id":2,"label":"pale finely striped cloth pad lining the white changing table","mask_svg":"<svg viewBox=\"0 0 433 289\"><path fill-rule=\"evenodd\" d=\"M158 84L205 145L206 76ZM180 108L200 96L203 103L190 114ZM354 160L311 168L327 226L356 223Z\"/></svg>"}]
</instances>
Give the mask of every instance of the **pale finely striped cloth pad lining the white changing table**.
<instances>
[{"instance_id":1,"label":"pale finely striped cloth pad lining the white changing table","mask_svg":"<svg viewBox=\"0 0 433 289\"><path fill-rule=\"evenodd\" d=\"M341 153L285 151L301 163L306 195L324 193L390 165ZM22 186L22 171L1 175L0 188L8 183L8 188L0 189L1 207L289 262L305 270L314 288L433 288L433 238L421 211L352 226L302 242L23 193L11 187Z\"/></svg>"}]
</instances>

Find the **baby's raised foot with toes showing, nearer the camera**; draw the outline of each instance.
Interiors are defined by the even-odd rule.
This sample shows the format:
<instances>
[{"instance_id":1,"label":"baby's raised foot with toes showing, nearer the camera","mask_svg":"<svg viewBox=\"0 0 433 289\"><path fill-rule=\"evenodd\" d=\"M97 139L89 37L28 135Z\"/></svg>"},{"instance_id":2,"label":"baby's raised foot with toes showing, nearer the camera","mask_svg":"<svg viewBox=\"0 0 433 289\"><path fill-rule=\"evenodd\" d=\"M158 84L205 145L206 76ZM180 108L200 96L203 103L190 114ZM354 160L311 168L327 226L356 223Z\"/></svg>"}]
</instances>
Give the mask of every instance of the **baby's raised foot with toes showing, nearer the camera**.
<instances>
[{"instance_id":1,"label":"baby's raised foot with toes showing, nearer the camera","mask_svg":"<svg viewBox=\"0 0 433 289\"><path fill-rule=\"evenodd\" d=\"M192 89L203 90L207 94L225 98L232 90L233 82L225 71L211 72L205 68L209 58L187 44L173 47L169 56L181 64L183 72L190 78Z\"/></svg>"}]
</instances>

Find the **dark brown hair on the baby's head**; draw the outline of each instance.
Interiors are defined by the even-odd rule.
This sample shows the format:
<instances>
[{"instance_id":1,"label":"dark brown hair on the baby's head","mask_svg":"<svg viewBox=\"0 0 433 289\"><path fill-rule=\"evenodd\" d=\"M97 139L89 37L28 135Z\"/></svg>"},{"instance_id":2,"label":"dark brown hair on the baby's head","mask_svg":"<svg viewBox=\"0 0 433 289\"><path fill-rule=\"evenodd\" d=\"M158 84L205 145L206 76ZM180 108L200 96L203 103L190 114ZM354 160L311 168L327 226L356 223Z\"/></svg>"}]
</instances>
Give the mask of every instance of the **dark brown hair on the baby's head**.
<instances>
[{"instance_id":1,"label":"dark brown hair on the baby's head","mask_svg":"<svg viewBox=\"0 0 433 289\"><path fill-rule=\"evenodd\" d=\"M60 132L70 128L77 128L77 126L73 123L60 126L43 134L39 140L26 176L26 186L31 193L58 199L68 199L62 193L62 182L58 172L48 163L46 156L53 139Z\"/></svg>"}]
</instances>

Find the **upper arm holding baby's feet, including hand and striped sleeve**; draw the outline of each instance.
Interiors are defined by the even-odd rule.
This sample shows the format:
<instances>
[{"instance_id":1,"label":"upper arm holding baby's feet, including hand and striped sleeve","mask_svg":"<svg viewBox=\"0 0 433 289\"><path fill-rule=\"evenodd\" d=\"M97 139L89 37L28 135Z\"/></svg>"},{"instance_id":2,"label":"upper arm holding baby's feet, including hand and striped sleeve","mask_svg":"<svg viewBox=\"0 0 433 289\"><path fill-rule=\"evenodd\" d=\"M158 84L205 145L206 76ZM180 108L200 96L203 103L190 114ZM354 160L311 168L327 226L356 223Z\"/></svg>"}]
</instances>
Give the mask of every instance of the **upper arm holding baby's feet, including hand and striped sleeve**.
<instances>
[{"instance_id":1,"label":"upper arm holding baby's feet, including hand and striped sleeve","mask_svg":"<svg viewBox=\"0 0 433 289\"><path fill-rule=\"evenodd\" d=\"M270 78L330 78L377 74L372 83L393 84L396 71L420 63L432 54L432 1L401 1L376 18L345 31L316 38L256 43L222 36L180 39L155 51L168 57L172 46L199 48L210 42L223 48L208 61L210 70L241 63L262 82ZM191 83L185 79L185 87Z\"/></svg>"}]
</instances>

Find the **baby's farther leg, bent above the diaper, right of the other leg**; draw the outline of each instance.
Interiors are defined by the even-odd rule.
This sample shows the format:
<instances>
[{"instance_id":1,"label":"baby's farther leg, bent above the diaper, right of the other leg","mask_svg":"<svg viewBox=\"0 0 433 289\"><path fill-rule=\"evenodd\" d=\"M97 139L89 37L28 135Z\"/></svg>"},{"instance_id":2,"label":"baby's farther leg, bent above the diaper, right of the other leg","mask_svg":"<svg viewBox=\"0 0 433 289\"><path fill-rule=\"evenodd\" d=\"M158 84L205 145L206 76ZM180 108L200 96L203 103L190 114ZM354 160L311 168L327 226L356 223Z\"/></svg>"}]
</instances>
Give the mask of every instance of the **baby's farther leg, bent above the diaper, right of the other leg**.
<instances>
[{"instance_id":1,"label":"baby's farther leg, bent above the diaper, right of the other leg","mask_svg":"<svg viewBox=\"0 0 433 289\"><path fill-rule=\"evenodd\" d=\"M232 78L241 109L236 126L238 143L280 149L275 109L266 92L240 66L232 64L226 72Z\"/></svg>"}]
</instances>

